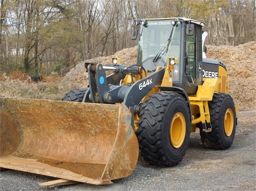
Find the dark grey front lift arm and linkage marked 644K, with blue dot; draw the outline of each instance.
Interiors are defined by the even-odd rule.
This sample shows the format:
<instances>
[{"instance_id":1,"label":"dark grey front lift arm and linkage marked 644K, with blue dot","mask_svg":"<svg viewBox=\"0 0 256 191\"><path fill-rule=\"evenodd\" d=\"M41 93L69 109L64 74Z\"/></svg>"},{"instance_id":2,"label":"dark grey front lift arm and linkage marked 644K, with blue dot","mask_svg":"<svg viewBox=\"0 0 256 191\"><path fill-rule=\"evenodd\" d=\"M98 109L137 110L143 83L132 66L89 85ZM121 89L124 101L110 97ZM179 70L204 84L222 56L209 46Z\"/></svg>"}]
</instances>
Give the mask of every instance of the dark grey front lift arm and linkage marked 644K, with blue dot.
<instances>
[{"instance_id":1,"label":"dark grey front lift arm and linkage marked 644K, with blue dot","mask_svg":"<svg viewBox=\"0 0 256 191\"><path fill-rule=\"evenodd\" d=\"M109 76L106 76L106 70L101 63L87 63L85 67L88 71L89 89L85 93L84 102L92 101L103 104L123 102L128 108L137 106L142 98L163 80L165 73L165 68L161 68L159 71L126 86L118 85L118 83L127 75L124 70L127 66L121 66L122 69ZM141 84L147 81L150 84L140 90Z\"/></svg>"}]
</instances>

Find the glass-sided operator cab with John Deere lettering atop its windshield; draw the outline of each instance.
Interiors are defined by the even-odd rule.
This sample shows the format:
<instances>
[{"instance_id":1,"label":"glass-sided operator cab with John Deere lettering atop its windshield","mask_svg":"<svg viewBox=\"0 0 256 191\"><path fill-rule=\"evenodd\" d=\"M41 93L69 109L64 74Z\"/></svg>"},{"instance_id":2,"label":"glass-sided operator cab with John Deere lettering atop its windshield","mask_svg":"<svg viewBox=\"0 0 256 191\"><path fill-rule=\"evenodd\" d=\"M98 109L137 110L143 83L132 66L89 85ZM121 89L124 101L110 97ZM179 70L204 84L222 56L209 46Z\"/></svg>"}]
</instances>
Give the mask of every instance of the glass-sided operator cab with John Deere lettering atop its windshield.
<instances>
[{"instance_id":1,"label":"glass-sided operator cab with John Deere lettering atop its windshield","mask_svg":"<svg viewBox=\"0 0 256 191\"><path fill-rule=\"evenodd\" d=\"M202 85L202 28L207 24L186 18L136 20L140 25L137 64L150 73L177 58L173 86L194 94Z\"/></svg>"}]
</instances>

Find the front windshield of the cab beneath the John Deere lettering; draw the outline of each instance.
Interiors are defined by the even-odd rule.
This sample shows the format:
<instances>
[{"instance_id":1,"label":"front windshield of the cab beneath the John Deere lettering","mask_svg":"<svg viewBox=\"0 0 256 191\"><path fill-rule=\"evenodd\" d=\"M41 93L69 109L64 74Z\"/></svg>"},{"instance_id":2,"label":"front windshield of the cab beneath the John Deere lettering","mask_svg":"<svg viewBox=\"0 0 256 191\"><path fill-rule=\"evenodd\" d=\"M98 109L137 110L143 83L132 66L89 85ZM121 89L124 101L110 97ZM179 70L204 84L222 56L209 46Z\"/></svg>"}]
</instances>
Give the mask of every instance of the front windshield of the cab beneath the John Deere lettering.
<instances>
[{"instance_id":1,"label":"front windshield of the cab beneath the John Deere lettering","mask_svg":"<svg viewBox=\"0 0 256 191\"><path fill-rule=\"evenodd\" d=\"M141 26L138 64L147 65L145 62L157 54L164 63L168 57L179 58L180 28L171 25L171 20L147 20L147 26Z\"/></svg>"}]
</instances>

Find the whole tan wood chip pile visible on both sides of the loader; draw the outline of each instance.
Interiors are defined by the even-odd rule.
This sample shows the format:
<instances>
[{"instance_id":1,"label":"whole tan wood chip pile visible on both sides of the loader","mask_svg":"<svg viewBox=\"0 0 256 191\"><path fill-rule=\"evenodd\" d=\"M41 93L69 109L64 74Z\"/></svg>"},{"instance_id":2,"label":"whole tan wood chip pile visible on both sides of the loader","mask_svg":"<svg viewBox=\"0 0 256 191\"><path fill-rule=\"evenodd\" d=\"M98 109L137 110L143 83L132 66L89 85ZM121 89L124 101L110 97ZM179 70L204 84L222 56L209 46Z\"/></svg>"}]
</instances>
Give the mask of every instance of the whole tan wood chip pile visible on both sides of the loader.
<instances>
[{"instance_id":1,"label":"whole tan wood chip pile visible on both sides of the loader","mask_svg":"<svg viewBox=\"0 0 256 191\"><path fill-rule=\"evenodd\" d=\"M73 83L78 88L87 88L88 75L85 62L110 63L111 57L119 57L122 65L136 63L138 47L123 49L108 57L97 57L79 63L62 79L62 83ZM222 61L230 77L229 93L240 110L256 109L256 42L238 46L207 46L206 56Z\"/></svg>"}]
</instances>

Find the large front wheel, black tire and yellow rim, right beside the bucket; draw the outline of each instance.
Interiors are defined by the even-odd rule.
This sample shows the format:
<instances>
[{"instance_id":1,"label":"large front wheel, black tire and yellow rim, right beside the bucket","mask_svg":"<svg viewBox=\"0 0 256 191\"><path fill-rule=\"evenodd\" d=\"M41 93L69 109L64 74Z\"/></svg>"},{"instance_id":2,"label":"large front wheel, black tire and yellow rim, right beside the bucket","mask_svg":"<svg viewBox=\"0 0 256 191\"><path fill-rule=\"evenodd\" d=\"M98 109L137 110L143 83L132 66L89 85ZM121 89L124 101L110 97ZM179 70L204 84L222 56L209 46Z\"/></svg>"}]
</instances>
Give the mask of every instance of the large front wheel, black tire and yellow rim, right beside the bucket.
<instances>
[{"instance_id":1,"label":"large front wheel, black tire and yellow rim, right beside the bucket","mask_svg":"<svg viewBox=\"0 0 256 191\"><path fill-rule=\"evenodd\" d=\"M143 104L137 138L143 158L151 164L175 166L185 155L190 136L189 107L183 96L162 91Z\"/></svg>"}]
</instances>

